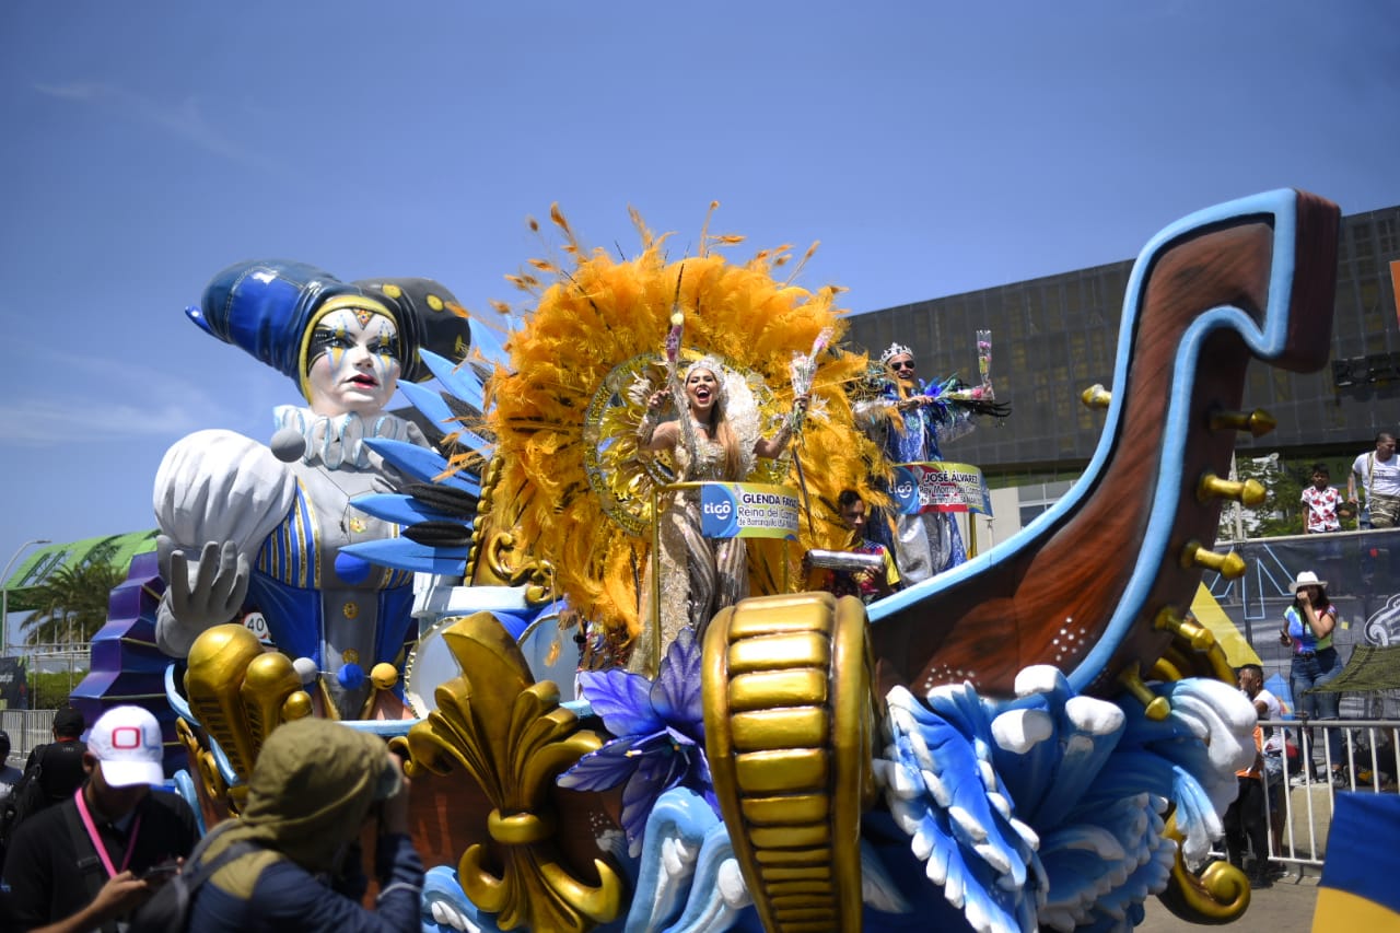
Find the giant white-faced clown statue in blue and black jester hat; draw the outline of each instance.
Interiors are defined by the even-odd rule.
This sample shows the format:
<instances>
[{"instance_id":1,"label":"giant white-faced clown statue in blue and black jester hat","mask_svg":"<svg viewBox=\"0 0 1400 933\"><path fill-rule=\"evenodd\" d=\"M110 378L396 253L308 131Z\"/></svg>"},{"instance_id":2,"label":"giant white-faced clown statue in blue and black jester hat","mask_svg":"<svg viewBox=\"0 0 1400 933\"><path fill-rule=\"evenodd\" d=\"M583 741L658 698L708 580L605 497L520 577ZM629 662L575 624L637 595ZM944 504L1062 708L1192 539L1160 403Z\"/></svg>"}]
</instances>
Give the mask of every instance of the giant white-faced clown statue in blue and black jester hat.
<instances>
[{"instance_id":1,"label":"giant white-faced clown statue in blue and black jester hat","mask_svg":"<svg viewBox=\"0 0 1400 933\"><path fill-rule=\"evenodd\" d=\"M318 672L312 695L325 714L364 716L367 674L381 663L402 667L416 635L412 574L340 549L398 535L351 504L403 482L364 441L427 445L416 424L384 408L400 377L427 375L420 346L463 356L469 329L454 305L426 279L351 284L283 261L239 263L213 279L186 314L295 380L307 405L274 410L270 447L206 430L167 451L154 497L168 581L161 650L185 657L204 629L259 612L304 677Z\"/></svg>"}]
</instances>

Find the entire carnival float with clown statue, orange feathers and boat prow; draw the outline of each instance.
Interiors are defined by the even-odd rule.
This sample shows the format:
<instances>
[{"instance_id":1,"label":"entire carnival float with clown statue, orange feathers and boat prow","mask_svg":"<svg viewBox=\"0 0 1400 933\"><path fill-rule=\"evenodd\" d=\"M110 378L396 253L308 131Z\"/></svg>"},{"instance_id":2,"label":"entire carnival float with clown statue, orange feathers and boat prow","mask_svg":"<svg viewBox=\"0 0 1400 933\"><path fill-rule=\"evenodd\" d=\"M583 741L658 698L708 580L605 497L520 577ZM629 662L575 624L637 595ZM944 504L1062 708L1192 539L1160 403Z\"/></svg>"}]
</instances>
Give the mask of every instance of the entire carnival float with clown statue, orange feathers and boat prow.
<instances>
[{"instance_id":1,"label":"entire carnival float with clown statue, orange feathers and boat prow","mask_svg":"<svg viewBox=\"0 0 1400 933\"><path fill-rule=\"evenodd\" d=\"M804 555L841 552L844 489L925 511L938 464L883 455L895 377L788 248L731 262L707 224L679 255L638 217L615 258L556 209L521 303L486 312L232 266L190 318L308 403L161 465L139 615L178 658L176 782L213 824L280 723L384 735L426 932L1130 930L1154 895L1239 918L1210 852L1254 714L1187 607L1242 570L1221 503L1261 492L1224 479L1270 424L1247 364L1326 363L1337 223L1277 191L1158 234L1084 476L869 604L805 591ZM921 389L935 422L1004 413L979 347L980 384ZM739 458L708 469L721 417Z\"/></svg>"}]
</instances>

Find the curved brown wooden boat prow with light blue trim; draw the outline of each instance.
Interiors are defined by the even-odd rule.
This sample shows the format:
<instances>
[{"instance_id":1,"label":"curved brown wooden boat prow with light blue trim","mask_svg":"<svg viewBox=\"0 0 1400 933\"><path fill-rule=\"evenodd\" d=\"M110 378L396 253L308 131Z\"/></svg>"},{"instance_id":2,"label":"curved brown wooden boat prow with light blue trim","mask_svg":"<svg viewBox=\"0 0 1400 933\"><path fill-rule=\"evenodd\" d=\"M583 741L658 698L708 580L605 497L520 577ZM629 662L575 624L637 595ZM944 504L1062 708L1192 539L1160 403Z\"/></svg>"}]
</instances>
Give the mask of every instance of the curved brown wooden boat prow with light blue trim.
<instances>
[{"instance_id":1,"label":"curved brown wooden boat prow with light blue trim","mask_svg":"<svg viewBox=\"0 0 1400 933\"><path fill-rule=\"evenodd\" d=\"M1009 696L1018 671L1053 664L1105 696L1152 667L1200 583L1196 553L1215 542L1222 496L1245 495L1203 481L1229 475L1235 433L1252 423L1238 410L1249 360L1327 361L1338 217L1322 198L1278 191L1148 244L1082 479L1009 541L872 607L882 686L969 681Z\"/></svg>"}]
</instances>

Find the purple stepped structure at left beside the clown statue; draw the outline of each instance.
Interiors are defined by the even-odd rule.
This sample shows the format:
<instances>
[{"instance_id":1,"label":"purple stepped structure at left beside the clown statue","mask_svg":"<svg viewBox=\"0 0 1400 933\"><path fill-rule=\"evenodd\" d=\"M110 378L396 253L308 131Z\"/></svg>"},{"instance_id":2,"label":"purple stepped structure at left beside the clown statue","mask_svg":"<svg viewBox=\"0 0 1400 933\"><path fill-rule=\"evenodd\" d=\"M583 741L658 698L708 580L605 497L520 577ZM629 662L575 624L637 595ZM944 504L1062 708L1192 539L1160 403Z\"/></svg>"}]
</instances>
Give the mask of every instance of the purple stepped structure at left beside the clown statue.
<instances>
[{"instance_id":1,"label":"purple stepped structure at left beside the clown statue","mask_svg":"<svg viewBox=\"0 0 1400 933\"><path fill-rule=\"evenodd\" d=\"M165 668L174 658L155 647L155 609L164 593L155 552L132 558L126 580L112 590L106 604L106 625L92 636L88 675L73 691L73 705L88 726L113 706L151 710L165 738L168 778L188 762L175 735L175 710L165 700Z\"/></svg>"}]
</instances>

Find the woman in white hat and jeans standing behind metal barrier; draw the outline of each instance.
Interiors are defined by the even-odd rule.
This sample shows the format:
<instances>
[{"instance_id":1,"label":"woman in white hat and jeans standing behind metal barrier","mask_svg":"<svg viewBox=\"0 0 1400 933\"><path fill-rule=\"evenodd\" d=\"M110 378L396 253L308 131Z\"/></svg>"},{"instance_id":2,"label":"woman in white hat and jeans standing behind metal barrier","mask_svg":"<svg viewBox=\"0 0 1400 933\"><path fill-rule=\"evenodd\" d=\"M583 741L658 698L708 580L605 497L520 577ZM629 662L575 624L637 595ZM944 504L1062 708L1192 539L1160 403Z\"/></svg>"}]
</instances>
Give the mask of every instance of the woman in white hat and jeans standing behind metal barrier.
<instances>
[{"instance_id":1,"label":"woman in white hat and jeans standing behind metal barrier","mask_svg":"<svg viewBox=\"0 0 1400 933\"><path fill-rule=\"evenodd\" d=\"M1292 649L1288 686L1294 693L1298 713L1306 719L1336 720L1340 706L1337 693L1312 693L1341 674L1341 656L1331 644L1337 628L1337 607L1327 598L1327 581L1312 570L1303 570L1289 586L1294 602L1284 609L1281 644ZM1310 731L1303 730L1303 768L1313 766ZM1331 780L1341 782L1341 734L1327 730L1327 751L1331 758ZM1320 775L1319 775L1320 776Z\"/></svg>"}]
</instances>

